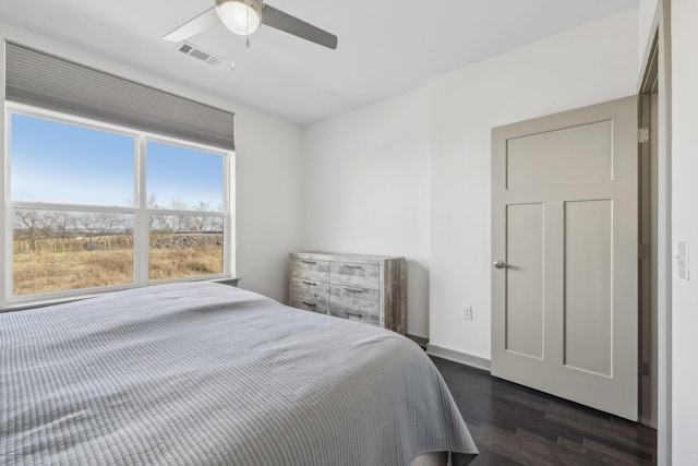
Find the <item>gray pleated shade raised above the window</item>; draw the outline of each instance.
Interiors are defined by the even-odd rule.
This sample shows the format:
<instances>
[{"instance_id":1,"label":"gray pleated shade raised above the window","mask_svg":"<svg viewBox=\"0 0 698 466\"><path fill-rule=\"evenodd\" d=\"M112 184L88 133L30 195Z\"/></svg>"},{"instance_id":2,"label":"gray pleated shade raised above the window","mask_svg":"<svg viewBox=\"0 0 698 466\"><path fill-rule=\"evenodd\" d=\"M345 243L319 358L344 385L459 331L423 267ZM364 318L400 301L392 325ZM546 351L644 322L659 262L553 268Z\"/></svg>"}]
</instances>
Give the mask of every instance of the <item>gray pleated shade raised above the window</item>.
<instances>
[{"instance_id":1,"label":"gray pleated shade raised above the window","mask_svg":"<svg viewBox=\"0 0 698 466\"><path fill-rule=\"evenodd\" d=\"M234 113L5 43L5 98L234 150Z\"/></svg>"}]
</instances>

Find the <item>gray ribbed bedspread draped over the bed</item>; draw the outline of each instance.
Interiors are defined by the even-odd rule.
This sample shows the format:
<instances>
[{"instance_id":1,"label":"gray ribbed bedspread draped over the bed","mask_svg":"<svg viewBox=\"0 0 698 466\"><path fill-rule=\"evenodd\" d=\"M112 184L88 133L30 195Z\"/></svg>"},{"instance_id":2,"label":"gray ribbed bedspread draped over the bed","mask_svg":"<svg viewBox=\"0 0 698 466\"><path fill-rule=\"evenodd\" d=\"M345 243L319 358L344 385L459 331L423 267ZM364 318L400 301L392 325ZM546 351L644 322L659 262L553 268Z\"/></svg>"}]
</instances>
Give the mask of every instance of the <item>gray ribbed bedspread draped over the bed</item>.
<instances>
[{"instance_id":1,"label":"gray ribbed bedspread draped over the bed","mask_svg":"<svg viewBox=\"0 0 698 466\"><path fill-rule=\"evenodd\" d=\"M477 453L424 353L226 285L0 314L0 464L407 465Z\"/></svg>"}]
</instances>

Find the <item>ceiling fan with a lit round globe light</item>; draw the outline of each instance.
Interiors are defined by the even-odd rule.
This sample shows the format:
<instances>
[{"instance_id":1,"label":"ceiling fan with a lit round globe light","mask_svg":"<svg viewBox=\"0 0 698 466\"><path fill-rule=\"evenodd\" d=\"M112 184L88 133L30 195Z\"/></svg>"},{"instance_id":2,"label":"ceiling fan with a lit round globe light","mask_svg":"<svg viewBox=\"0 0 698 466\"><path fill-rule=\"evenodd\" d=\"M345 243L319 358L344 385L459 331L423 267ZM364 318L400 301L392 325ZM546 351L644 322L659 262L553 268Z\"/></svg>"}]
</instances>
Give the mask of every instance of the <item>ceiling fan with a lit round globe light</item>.
<instances>
[{"instance_id":1,"label":"ceiling fan with a lit round globe light","mask_svg":"<svg viewBox=\"0 0 698 466\"><path fill-rule=\"evenodd\" d=\"M216 0L216 5L163 37L182 41L221 22L240 36L249 36L264 24L330 49L337 36L266 4L264 0Z\"/></svg>"}]
</instances>

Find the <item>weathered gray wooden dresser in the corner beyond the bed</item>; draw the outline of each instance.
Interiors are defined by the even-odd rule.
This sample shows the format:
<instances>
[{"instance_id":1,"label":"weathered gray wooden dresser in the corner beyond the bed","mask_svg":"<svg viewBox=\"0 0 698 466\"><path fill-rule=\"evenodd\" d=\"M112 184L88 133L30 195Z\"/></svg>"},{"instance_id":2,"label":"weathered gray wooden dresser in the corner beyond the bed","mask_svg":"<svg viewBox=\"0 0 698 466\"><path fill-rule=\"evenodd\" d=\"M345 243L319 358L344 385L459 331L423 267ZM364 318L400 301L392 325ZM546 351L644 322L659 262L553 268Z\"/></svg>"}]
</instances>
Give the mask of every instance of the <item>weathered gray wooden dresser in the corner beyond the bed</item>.
<instances>
[{"instance_id":1,"label":"weathered gray wooden dresser in the corner beyond the bed","mask_svg":"<svg viewBox=\"0 0 698 466\"><path fill-rule=\"evenodd\" d=\"M323 252L289 258L289 306L405 334L405 258Z\"/></svg>"}]
</instances>

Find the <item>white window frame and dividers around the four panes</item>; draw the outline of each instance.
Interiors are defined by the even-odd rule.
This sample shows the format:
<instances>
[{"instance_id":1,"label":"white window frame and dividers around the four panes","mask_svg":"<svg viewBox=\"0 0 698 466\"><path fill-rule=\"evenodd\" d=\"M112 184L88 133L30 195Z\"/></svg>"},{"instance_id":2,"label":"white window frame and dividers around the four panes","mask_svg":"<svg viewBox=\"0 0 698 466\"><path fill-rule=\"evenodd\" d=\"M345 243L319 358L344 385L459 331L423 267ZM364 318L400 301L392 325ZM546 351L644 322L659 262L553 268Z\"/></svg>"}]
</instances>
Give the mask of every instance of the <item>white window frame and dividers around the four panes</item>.
<instances>
[{"instance_id":1,"label":"white window frame and dividers around the four panes","mask_svg":"<svg viewBox=\"0 0 698 466\"><path fill-rule=\"evenodd\" d=\"M4 280L0 289L0 309L10 309L26 304L40 304L45 302L68 301L93 296L106 291L120 289L141 288L167 283L184 282L210 282L225 280L234 277L236 273L236 222L234 222L234 151L226 150L213 145L205 145L196 142L181 140L168 135L157 134L151 131L128 128L123 126L106 123L84 117L77 117L65 112L48 110L25 104L10 100L4 103L4 176L1 180L2 189L2 219L3 231L0 232L0 263L2 263ZM97 131L106 131L113 134L133 138L133 205L132 206L104 206L85 204L65 204L51 202L27 202L13 201L11 199L11 158L12 147L12 116L21 115L29 118L45 119L58 123L79 126ZM170 208L148 208L146 188L146 164L148 141L176 145L183 148L206 152L222 157L222 211L201 212L194 210L170 210ZM33 295L13 295L13 263L14 263L14 232L13 215L15 210L45 210L45 211L68 211L68 212L108 212L133 215L133 282L122 285L110 285L95 288L80 288L72 290L40 292ZM222 273L201 276L189 276L182 278L149 279L149 216L160 215L195 215L222 217Z\"/></svg>"}]
</instances>

